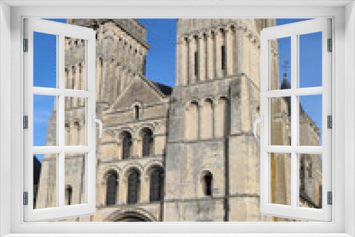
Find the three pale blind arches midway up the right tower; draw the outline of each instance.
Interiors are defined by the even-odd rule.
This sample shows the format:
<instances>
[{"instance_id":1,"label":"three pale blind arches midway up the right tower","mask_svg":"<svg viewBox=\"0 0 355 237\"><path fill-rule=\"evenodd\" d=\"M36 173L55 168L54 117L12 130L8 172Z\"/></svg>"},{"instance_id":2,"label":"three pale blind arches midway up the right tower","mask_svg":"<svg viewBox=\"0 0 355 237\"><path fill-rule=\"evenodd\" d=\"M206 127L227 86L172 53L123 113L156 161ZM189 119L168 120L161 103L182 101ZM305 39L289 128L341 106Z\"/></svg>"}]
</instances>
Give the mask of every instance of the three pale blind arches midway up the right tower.
<instances>
[{"instance_id":1,"label":"three pale blind arches midway up the right tower","mask_svg":"<svg viewBox=\"0 0 355 237\"><path fill-rule=\"evenodd\" d=\"M190 101L185 110L185 140L222 138L226 135L228 101L204 99Z\"/></svg>"}]
</instances>

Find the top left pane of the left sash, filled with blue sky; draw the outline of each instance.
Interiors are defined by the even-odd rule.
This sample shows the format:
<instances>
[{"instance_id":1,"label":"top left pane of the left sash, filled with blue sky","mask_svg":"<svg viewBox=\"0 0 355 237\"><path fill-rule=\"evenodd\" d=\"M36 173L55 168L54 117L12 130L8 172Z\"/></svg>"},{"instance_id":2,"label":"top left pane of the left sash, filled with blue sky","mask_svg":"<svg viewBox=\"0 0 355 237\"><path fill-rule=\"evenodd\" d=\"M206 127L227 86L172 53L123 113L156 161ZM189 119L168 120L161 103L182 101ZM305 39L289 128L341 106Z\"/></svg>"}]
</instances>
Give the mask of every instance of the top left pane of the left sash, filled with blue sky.
<instances>
[{"instance_id":1,"label":"top left pane of the left sash, filled with blue sky","mask_svg":"<svg viewBox=\"0 0 355 237\"><path fill-rule=\"evenodd\" d=\"M33 32L33 87L57 87L57 35Z\"/></svg>"}]
</instances>

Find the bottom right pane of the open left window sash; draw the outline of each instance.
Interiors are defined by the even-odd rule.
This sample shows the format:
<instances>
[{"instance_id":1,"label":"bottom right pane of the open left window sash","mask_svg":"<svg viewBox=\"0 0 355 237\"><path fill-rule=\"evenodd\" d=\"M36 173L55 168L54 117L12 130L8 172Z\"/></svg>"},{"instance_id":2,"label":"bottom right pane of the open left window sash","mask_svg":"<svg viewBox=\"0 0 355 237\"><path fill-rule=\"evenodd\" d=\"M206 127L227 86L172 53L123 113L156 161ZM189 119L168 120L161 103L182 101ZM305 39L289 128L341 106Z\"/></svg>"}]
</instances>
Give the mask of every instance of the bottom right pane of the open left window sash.
<instances>
[{"instance_id":1,"label":"bottom right pane of the open left window sash","mask_svg":"<svg viewBox=\"0 0 355 237\"><path fill-rule=\"evenodd\" d=\"M65 154L65 206L84 204L85 153Z\"/></svg>"}]
</instances>

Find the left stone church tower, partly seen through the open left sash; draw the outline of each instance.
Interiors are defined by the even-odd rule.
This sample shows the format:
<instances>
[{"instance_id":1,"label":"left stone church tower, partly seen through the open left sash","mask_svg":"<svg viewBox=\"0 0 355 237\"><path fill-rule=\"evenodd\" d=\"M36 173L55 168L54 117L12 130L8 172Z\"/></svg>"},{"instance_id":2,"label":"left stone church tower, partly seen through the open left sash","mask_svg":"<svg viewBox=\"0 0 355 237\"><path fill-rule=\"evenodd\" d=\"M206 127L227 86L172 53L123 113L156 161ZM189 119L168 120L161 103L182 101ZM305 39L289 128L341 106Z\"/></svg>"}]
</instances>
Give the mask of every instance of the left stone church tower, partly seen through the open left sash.
<instances>
[{"instance_id":1,"label":"left stone church tower, partly seen through the open left sash","mask_svg":"<svg viewBox=\"0 0 355 237\"><path fill-rule=\"evenodd\" d=\"M104 111L114 104L129 83L145 76L150 48L146 42L147 29L135 19L67 19L67 23L96 31L97 118L102 119ZM85 42L65 38L65 88L82 90L85 86ZM56 108L48 123L46 145L55 145L55 114ZM104 129L105 126L107 124ZM83 98L65 98L65 145L85 145ZM100 148L97 145L98 160ZM56 160L55 155L44 155L35 209L56 205ZM84 164L84 154L65 154L65 205L84 203Z\"/></svg>"}]
</instances>

